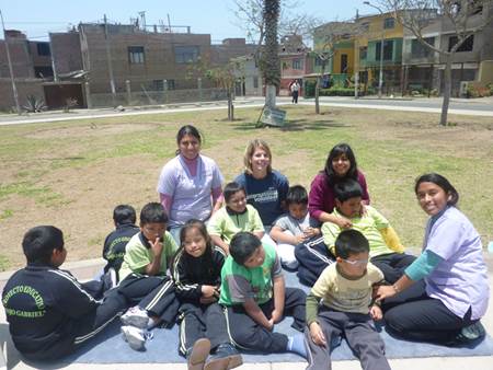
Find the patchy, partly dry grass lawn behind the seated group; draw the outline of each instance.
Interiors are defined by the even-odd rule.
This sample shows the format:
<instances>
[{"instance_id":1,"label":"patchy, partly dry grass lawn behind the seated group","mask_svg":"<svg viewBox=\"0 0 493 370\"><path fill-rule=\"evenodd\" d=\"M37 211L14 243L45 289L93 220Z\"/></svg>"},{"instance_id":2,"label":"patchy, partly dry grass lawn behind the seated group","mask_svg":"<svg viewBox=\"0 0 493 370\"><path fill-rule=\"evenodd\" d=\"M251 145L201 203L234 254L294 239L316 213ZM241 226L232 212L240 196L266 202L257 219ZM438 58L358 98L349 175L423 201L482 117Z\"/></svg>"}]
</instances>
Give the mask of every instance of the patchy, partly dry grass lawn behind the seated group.
<instances>
[{"instance_id":1,"label":"patchy, partly dry grass lawn behind the seated group","mask_svg":"<svg viewBox=\"0 0 493 370\"><path fill-rule=\"evenodd\" d=\"M444 128L435 114L286 109L284 129L255 129L259 108L237 109L233 123L222 109L0 127L0 270L24 264L21 240L37 224L64 231L69 261L99 257L114 206L126 203L139 211L158 200L160 170L174 155L184 124L202 130L203 152L218 162L227 182L242 171L252 138L265 139L273 166L307 187L329 150L348 142L372 205L409 246L420 246L426 220L414 178L438 172L459 190L459 207L483 243L493 240L493 118L451 115L456 126Z\"/></svg>"}]
</instances>

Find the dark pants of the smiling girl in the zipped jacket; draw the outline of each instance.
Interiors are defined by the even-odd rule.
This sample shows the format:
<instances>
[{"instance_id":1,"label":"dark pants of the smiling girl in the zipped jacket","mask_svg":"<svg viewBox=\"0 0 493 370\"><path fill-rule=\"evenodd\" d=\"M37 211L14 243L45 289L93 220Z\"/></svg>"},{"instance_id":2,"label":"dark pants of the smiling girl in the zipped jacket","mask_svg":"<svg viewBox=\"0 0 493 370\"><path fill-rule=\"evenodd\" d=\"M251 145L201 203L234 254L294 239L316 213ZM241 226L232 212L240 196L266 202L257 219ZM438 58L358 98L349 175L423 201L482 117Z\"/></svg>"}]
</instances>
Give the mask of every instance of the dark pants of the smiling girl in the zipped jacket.
<instances>
[{"instance_id":1,"label":"dark pants of the smiling girl in the zipped jacket","mask_svg":"<svg viewBox=\"0 0 493 370\"><path fill-rule=\"evenodd\" d=\"M185 356L199 338L208 338L210 348L215 349L223 343L230 343L225 311L218 303L193 304L180 307L180 352Z\"/></svg>"}]
</instances>

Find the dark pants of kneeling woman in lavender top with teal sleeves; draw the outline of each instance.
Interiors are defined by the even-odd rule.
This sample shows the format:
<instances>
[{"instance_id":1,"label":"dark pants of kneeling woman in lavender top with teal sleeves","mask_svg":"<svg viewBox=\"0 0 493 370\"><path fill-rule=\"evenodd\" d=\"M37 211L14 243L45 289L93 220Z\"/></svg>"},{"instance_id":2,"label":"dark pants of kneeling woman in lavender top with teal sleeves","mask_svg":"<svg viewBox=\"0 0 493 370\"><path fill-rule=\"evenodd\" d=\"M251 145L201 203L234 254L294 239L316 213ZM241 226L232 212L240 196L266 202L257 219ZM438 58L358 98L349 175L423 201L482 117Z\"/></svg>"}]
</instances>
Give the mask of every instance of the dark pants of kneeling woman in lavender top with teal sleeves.
<instances>
[{"instance_id":1,"label":"dark pants of kneeling woman in lavender top with teal sleeves","mask_svg":"<svg viewBox=\"0 0 493 370\"><path fill-rule=\"evenodd\" d=\"M429 298L420 281L387 299L382 309L391 334L420 342L449 344L462 327L477 322L471 320L470 309L463 317L459 317L440 300Z\"/></svg>"}]
</instances>

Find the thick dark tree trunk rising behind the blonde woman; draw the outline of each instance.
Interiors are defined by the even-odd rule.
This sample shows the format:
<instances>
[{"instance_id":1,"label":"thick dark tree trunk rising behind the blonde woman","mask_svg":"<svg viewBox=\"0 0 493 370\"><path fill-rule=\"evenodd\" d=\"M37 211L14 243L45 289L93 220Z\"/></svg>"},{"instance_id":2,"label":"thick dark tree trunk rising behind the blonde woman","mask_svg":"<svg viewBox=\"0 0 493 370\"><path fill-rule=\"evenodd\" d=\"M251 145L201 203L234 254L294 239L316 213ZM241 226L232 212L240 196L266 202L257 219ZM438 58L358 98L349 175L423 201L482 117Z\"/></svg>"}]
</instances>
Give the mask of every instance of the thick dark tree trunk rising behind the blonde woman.
<instances>
[{"instance_id":1,"label":"thick dark tree trunk rising behind the blonde woman","mask_svg":"<svg viewBox=\"0 0 493 370\"><path fill-rule=\"evenodd\" d=\"M265 49L261 56L260 67L265 79L265 105L270 108L276 106L276 91L280 82L279 42L277 38L279 8L279 0L264 0Z\"/></svg>"}]
</instances>

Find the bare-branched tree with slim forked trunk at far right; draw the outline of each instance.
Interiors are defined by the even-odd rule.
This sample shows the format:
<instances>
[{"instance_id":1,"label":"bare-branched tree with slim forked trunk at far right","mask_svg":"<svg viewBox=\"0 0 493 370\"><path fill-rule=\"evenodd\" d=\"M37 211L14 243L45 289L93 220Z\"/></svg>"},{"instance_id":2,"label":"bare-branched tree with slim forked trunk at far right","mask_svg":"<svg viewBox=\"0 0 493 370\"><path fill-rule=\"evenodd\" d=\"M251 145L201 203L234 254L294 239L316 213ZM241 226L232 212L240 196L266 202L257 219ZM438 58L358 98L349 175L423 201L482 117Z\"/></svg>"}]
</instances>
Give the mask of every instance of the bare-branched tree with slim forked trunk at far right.
<instances>
[{"instance_id":1,"label":"bare-branched tree with slim forked trunk at far right","mask_svg":"<svg viewBox=\"0 0 493 370\"><path fill-rule=\"evenodd\" d=\"M451 94L451 65L460 47L492 21L491 0L385 0L380 1L394 13L395 19L409 30L426 48L438 53L445 59L444 100L440 125L447 126L448 106ZM428 27L443 22L443 28L454 37L455 44L432 45L426 38Z\"/></svg>"}]
</instances>

